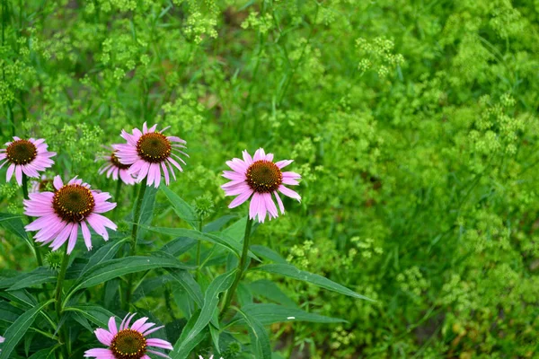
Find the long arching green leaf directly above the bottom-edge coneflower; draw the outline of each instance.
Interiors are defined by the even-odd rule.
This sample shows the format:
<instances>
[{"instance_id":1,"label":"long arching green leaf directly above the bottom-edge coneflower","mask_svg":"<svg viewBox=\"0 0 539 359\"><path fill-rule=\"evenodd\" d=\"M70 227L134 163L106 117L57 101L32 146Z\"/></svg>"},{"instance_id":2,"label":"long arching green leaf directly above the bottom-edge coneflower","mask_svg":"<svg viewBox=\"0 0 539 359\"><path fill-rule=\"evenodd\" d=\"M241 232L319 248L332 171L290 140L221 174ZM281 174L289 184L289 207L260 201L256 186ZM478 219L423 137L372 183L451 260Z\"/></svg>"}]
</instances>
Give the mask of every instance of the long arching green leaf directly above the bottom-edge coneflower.
<instances>
[{"instance_id":1,"label":"long arching green leaf directly above the bottom-edge coneflower","mask_svg":"<svg viewBox=\"0 0 539 359\"><path fill-rule=\"evenodd\" d=\"M151 257L133 256L118 259L109 259L98 266L90 269L84 276L75 282L66 296L66 301L72 293L94 285L100 285L112 278L125 276L130 273L142 272L155 268L181 268L192 269L186 266L176 258L154 255Z\"/></svg>"}]
</instances>

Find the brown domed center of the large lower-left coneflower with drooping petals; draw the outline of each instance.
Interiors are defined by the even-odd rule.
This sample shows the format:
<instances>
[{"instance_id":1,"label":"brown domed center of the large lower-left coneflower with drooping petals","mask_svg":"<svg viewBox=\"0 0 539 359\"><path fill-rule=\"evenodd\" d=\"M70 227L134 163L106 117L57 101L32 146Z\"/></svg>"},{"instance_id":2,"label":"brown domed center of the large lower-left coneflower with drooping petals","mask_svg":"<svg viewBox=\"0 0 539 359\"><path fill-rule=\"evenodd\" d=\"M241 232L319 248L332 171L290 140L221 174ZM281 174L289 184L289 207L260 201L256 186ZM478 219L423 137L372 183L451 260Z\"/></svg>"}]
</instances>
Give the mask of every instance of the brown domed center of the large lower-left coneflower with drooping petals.
<instances>
[{"instance_id":1,"label":"brown domed center of the large lower-left coneflower with drooping petals","mask_svg":"<svg viewBox=\"0 0 539 359\"><path fill-rule=\"evenodd\" d=\"M66 185L58 189L52 199L54 212L66 222L78 223L90 215L95 200L90 189L81 185Z\"/></svg>"}]
</instances>

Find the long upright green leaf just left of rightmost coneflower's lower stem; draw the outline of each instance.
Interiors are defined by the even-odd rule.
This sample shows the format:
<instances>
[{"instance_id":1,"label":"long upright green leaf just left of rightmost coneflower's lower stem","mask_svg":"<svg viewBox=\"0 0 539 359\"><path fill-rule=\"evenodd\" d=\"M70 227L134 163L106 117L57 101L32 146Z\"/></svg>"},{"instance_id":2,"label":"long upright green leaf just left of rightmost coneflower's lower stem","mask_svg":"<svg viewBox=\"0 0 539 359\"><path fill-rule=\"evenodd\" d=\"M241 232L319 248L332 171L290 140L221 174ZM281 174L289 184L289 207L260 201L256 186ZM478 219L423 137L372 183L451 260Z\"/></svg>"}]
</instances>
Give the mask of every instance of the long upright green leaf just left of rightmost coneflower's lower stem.
<instances>
[{"instance_id":1,"label":"long upright green leaf just left of rightmost coneflower's lower stem","mask_svg":"<svg viewBox=\"0 0 539 359\"><path fill-rule=\"evenodd\" d=\"M184 328L181 332L181 336L174 346L174 350L170 354L172 359L184 359L190 354L192 342L198 337L199 333L206 328L209 321L214 316L219 303L219 293L225 292L232 283L236 270L224 273L217 276L213 282L208 286L208 290L204 295L204 305L200 311L199 318L193 324L192 328Z\"/></svg>"}]
</instances>

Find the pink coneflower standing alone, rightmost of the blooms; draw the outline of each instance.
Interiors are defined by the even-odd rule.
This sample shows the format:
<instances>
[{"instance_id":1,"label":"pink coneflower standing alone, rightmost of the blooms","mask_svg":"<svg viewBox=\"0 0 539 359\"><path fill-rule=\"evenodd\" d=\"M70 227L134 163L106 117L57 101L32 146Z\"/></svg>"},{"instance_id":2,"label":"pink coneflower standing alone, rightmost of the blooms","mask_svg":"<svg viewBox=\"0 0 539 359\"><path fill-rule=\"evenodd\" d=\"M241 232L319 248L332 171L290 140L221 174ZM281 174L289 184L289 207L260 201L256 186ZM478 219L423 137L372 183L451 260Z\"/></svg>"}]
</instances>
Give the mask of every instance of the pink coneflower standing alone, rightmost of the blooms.
<instances>
[{"instance_id":1,"label":"pink coneflower standing alone, rightmost of the blooms","mask_svg":"<svg viewBox=\"0 0 539 359\"><path fill-rule=\"evenodd\" d=\"M285 206L278 192L291 198L301 201L301 197L290 188L284 185L297 185L297 180L301 176L296 172L282 172L281 169L292 163L292 160L273 162L273 153L264 153L259 148L254 153L254 157L247 151L243 151L243 161L234 158L226 164L233 171L223 171L223 177L231 180L221 186L225 190L226 196L237 196L228 205L229 208L240 206L252 196L249 206L249 218L254 219L258 215L259 222L263 223L266 213L270 219L277 218L278 212L271 194L275 195L281 214L285 213Z\"/></svg>"}]
</instances>

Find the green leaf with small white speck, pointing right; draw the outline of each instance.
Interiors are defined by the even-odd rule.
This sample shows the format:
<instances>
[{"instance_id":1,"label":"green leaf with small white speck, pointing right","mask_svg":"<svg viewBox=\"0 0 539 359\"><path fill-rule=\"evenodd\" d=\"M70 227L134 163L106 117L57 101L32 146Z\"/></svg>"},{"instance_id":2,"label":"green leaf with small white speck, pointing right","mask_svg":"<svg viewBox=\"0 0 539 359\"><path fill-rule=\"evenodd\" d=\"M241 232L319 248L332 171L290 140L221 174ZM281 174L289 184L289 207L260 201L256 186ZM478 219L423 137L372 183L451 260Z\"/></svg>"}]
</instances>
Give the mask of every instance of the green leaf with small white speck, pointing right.
<instances>
[{"instance_id":1,"label":"green leaf with small white speck, pointing right","mask_svg":"<svg viewBox=\"0 0 539 359\"><path fill-rule=\"evenodd\" d=\"M242 307L242 311L252 318L259 320L263 325L273 323L310 321L312 323L345 323L346 320L326 317L319 314L309 313L296 308L287 308L272 303L252 303Z\"/></svg>"}]
</instances>

